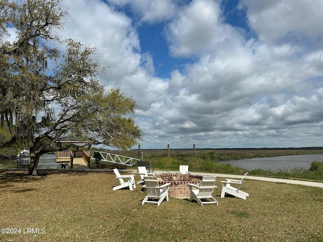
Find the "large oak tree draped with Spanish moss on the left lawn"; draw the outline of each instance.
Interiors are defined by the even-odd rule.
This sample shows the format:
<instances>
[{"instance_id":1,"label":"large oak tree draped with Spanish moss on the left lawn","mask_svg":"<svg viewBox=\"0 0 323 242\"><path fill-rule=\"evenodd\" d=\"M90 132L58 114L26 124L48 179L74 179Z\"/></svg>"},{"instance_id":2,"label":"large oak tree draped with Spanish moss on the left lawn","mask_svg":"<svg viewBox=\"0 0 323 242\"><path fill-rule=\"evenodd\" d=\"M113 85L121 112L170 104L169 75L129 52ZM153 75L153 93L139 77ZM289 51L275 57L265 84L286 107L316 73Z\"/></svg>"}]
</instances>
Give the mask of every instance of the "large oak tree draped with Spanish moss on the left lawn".
<instances>
[{"instance_id":1,"label":"large oak tree draped with Spanish moss on the left lawn","mask_svg":"<svg viewBox=\"0 0 323 242\"><path fill-rule=\"evenodd\" d=\"M37 173L39 157L64 137L121 149L140 139L130 117L135 101L100 84L104 68L95 48L60 39L66 17L62 0L0 0L1 124L29 147L28 174ZM6 41L9 29L16 31L14 41Z\"/></svg>"}]
</instances>

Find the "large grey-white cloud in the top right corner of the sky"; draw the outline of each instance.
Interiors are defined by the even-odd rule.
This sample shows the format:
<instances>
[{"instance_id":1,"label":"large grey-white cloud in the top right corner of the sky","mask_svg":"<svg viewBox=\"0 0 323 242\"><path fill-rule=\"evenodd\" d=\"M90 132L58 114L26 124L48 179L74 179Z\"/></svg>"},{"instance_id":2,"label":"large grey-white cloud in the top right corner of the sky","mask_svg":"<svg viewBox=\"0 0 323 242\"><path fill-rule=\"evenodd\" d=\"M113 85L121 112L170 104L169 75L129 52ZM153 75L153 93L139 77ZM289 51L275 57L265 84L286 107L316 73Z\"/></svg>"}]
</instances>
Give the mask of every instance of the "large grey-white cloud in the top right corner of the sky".
<instances>
[{"instance_id":1,"label":"large grey-white cloud in the top right corner of the sky","mask_svg":"<svg viewBox=\"0 0 323 242\"><path fill-rule=\"evenodd\" d=\"M243 0L250 27L259 40L274 44L285 41L307 42L323 34L320 0ZM319 41L321 42L321 41ZM321 46L321 43L320 43Z\"/></svg>"}]
</instances>

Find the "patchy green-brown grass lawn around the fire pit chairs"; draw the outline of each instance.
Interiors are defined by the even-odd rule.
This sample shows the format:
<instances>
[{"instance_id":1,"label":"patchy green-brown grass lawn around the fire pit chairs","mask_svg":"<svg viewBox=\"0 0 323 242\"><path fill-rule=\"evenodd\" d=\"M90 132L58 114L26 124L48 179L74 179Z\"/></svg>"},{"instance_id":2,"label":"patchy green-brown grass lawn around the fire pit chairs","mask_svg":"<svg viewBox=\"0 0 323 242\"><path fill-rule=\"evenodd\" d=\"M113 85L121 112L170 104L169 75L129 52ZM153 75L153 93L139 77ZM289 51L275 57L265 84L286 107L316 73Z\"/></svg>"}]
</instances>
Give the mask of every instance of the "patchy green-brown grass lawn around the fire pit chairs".
<instances>
[{"instance_id":1,"label":"patchy green-brown grass lawn around the fire pit chairs","mask_svg":"<svg viewBox=\"0 0 323 242\"><path fill-rule=\"evenodd\" d=\"M0 172L0 228L21 229L0 241L323 241L321 188L247 179L247 200L220 198L219 177L219 206L170 198L157 207L141 205L141 185L113 191L110 171Z\"/></svg>"}]
</instances>

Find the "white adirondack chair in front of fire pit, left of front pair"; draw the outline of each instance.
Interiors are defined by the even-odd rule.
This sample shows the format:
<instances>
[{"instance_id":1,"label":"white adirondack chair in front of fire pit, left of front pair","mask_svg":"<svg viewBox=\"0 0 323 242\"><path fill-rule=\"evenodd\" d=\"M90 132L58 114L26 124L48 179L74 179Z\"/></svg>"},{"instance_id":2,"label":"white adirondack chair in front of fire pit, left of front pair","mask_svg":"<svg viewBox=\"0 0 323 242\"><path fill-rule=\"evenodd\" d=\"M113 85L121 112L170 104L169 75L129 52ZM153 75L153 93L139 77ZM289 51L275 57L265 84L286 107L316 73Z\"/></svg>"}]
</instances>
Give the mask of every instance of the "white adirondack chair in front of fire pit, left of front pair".
<instances>
[{"instance_id":1,"label":"white adirondack chair in front of fire pit, left of front pair","mask_svg":"<svg viewBox=\"0 0 323 242\"><path fill-rule=\"evenodd\" d=\"M145 188L147 189L147 196L142 200L142 205L145 203L157 204L159 206L161 202L169 200L168 189L170 183L159 186L156 176L145 176L144 178Z\"/></svg>"}]
</instances>

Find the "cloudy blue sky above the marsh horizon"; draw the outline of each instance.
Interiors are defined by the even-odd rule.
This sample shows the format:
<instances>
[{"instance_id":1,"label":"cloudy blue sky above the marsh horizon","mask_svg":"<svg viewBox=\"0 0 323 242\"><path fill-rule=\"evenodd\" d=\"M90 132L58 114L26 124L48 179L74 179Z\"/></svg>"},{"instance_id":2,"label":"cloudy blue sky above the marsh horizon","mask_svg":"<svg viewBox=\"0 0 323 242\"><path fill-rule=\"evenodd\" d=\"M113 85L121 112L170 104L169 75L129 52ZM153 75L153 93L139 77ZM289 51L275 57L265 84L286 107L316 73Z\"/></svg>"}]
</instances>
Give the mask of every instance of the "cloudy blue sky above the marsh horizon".
<instances>
[{"instance_id":1,"label":"cloudy blue sky above the marsh horizon","mask_svg":"<svg viewBox=\"0 0 323 242\"><path fill-rule=\"evenodd\" d=\"M323 1L66 0L141 149L323 146ZM133 148L137 148L134 146Z\"/></svg>"}]
</instances>

